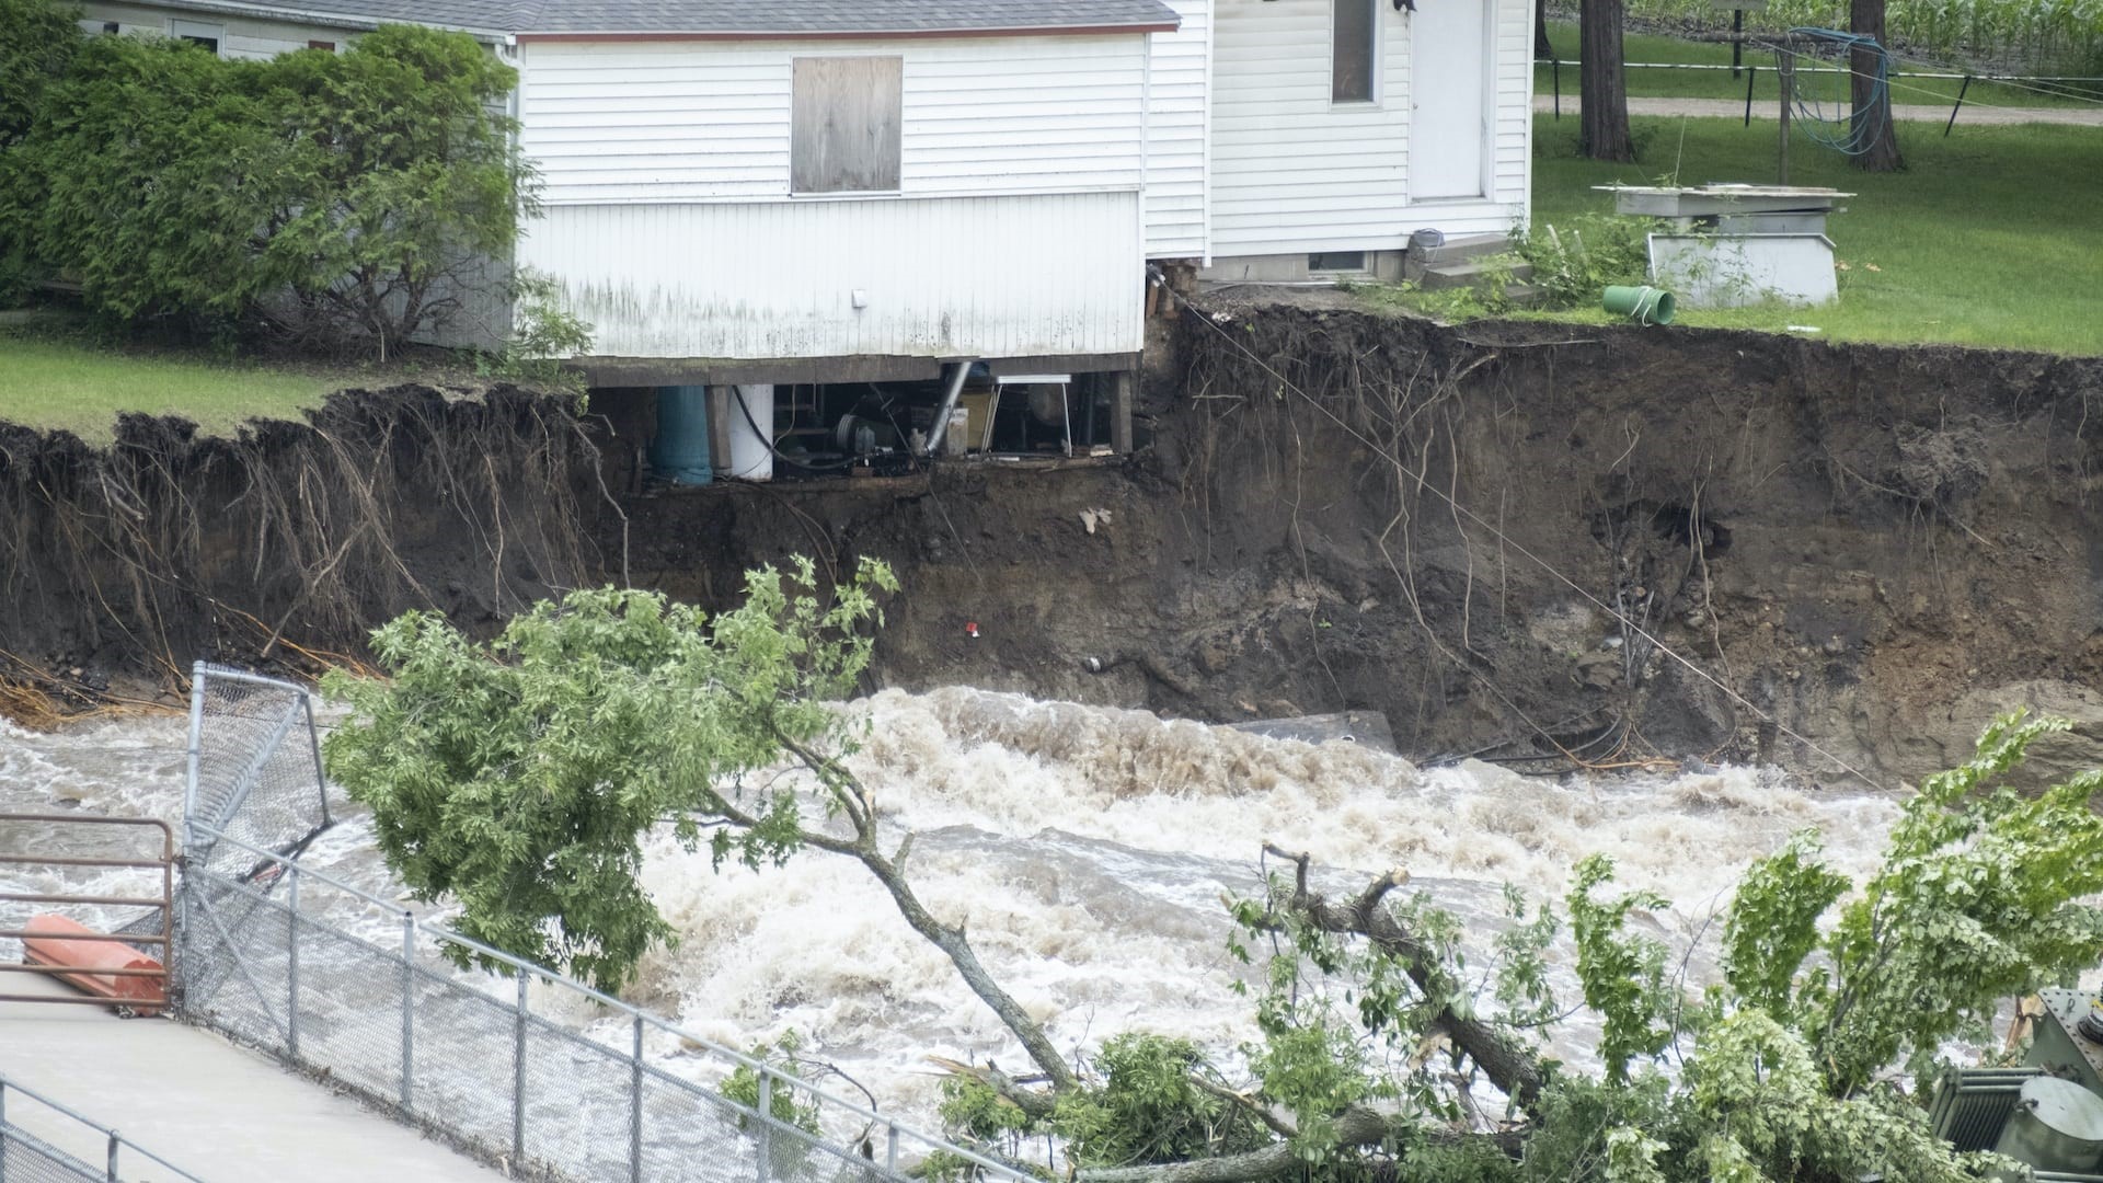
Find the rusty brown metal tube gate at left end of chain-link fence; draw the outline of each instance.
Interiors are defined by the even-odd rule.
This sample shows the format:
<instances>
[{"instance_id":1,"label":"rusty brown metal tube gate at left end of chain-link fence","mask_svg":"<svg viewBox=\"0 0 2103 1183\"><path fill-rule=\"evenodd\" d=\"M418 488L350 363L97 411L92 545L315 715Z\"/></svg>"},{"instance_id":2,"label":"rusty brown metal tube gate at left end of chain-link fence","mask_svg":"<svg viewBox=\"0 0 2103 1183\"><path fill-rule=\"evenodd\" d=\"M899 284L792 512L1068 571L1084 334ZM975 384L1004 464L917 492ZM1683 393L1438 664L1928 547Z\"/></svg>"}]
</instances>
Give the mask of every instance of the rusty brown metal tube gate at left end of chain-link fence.
<instances>
[{"instance_id":1,"label":"rusty brown metal tube gate at left end of chain-link fence","mask_svg":"<svg viewBox=\"0 0 2103 1183\"><path fill-rule=\"evenodd\" d=\"M17 867L82 867L82 869L160 869L160 895L158 897L128 897L128 895L93 895L80 890L6 890L0 893L0 905L6 903L42 903L55 907L145 907L147 918L160 918L158 924L145 924L143 930L137 926L128 933L105 935L105 933L55 933L23 926L0 928L0 939L23 941L23 960L0 962L0 973L34 973L44 977L57 977L69 981L82 989L103 987L105 994L0 994L0 1002L48 1002L48 1004L84 1004L84 1006L128 1006L141 1012L160 1010L168 998L168 949L175 930L175 831L168 829L166 821L151 817L90 817L76 813L0 813L0 825L48 825L48 827L74 827L74 825L118 825L118 827L151 827L160 829L160 855L158 857L88 857L88 855L8 855L0 853L0 865ZM76 844L59 844L61 848L78 848ZM4 920L0 920L4 922ZM65 941L65 943L111 943L111 945L156 945L158 964L151 966L67 966L57 962L36 962L29 958L29 941ZM103 979L103 981L93 981ZM147 979L158 983L158 987L132 987L132 981Z\"/></svg>"}]
</instances>

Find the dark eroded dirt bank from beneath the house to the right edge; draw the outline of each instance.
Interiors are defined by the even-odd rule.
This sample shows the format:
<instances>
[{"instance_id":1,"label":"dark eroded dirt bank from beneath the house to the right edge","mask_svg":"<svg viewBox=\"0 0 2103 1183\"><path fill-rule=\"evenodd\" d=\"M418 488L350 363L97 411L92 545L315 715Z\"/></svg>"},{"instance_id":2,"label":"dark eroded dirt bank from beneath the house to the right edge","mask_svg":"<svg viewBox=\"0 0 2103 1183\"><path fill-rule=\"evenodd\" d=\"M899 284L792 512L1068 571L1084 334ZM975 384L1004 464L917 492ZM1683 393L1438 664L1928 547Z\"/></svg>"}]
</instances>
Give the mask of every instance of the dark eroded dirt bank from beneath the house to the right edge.
<instances>
[{"instance_id":1,"label":"dark eroded dirt bank from beneath the house to the right edge","mask_svg":"<svg viewBox=\"0 0 2103 1183\"><path fill-rule=\"evenodd\" d=\"M2103 735L2099 360L1216 324L1184 318L1152 448L1121 469L637 501L635 579L709 600L757 560L877 554L908 587L892 682L1213 720L1375 707L1413 754L1825 766L1798 733L1888 779L2002 705Z\"/></svg>"}]
</instances>

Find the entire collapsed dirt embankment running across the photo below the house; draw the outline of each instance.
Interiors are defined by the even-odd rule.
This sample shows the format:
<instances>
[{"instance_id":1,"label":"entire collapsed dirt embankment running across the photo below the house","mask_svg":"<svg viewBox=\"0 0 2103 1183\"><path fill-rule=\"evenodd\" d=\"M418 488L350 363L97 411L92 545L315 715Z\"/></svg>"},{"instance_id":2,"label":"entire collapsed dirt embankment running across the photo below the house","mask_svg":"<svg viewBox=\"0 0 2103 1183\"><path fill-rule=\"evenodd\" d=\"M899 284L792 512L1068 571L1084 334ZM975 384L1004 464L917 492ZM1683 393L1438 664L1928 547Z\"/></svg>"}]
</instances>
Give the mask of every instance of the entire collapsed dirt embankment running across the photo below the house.
<instances>
[{"instance_id":1,"label":"entire collapsed dirt embankment running across the photo below the house","mask_svg":"<svg viewBox=\"0 0 2103 1183\"><path fill-rule=\"evenodd\" d=\"M13 436L0 648L353 648L622 562L719 602L755 562L873 554L904 686L1817 770L1796 733L1878 777L2000 705L2103 724L2099 360L1285 305L1178 337L1117 467L606 499L574 421L515 394L339 398L236 444L128 421L107 457ZM631 488L646 417L591 432Z\"/></svg>"}]
</instances>

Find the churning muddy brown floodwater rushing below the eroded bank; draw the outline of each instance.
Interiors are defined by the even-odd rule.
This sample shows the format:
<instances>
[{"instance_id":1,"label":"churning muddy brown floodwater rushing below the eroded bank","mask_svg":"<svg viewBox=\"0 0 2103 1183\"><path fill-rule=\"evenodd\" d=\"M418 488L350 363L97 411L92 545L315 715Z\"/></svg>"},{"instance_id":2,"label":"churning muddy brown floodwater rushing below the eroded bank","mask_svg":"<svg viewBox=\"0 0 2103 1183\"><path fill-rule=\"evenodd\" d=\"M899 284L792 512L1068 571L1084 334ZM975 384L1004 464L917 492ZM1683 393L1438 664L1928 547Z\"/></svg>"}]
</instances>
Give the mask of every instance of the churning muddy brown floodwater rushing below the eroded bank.
<instances>
[{"instance_id":1,"label":"churning muddy brown floodwater rushing below the eroded bank","mask_svg":"<svg viewBox=\"0 0 2103 1183\"><path fill-rule=\"evenodd\" d=\"M1491 764L1420 768L1352 743L1316 747L974 688L885 690L854 709L873 724L856 770L896 836L917 831L917 890L940 918L965 922L991 970L1062 1046L1152 1029L1232 1059L1251 1025L1230 989L1239 966L1224 951L1220 899L1255 888L1266 840L1312 853L1333 890L1405 867L1411 888L1476 930L1481 962L1502 884L1560 897L1577 859L1602 850L1621 884L1670 901L1655 933L1674 949L1697 945L1689 964L1699 977L1710 973L1710 920L1748 861L1817 827L1834 865L1859 878L1897 815L1895 798L1764 768L1596 781ZM183 747L175 716L59 735L0 724L0 810L175 821ZM341 815L307 863L397 899L364 815L347 804ZM36 842L0 834L6 848ZM1024 1063L852 861L805 853L780 869L717 874L707 853L654 836L644 878L679 947L652 954L629 998L700 1036L747 1046L793 1027L808 1055L923 1124L938 1082L930 1055ZM395 933L379 907L343 907L334 920L345 926ZM585 1008L566 1019L599 1021ZM1575 1052L1581 1036L1569 1029L1560 1050Z\"/></svg>"}]
</instances>

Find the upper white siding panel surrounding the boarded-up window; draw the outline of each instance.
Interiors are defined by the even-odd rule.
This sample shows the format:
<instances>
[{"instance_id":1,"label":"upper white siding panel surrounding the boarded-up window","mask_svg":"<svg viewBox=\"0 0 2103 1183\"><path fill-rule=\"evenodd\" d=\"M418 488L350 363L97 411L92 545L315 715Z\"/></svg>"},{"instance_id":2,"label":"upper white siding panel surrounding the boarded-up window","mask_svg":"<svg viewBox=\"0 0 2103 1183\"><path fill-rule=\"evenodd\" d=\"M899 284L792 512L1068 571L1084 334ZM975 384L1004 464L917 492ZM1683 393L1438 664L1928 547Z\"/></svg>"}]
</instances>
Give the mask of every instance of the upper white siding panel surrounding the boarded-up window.
<instances>
[{"instance_id":1,"label":"upper white siding panel surrounding the boarded-up window","mask_svg":"<svg viewBox=\"0 0 2103 1183\"><path fill-rule=\"evenodd\" d=\"M1140 36L900 42L528 42L526 154L543 200L789 194L795 57L902 55L906 196L1140 185Z\"/></svg>"}]
</instances>

